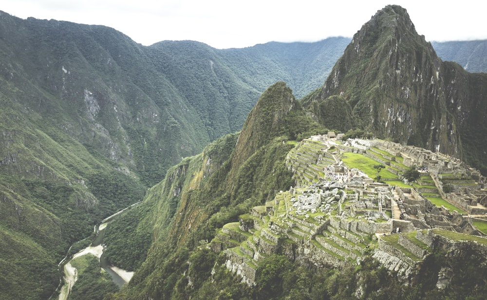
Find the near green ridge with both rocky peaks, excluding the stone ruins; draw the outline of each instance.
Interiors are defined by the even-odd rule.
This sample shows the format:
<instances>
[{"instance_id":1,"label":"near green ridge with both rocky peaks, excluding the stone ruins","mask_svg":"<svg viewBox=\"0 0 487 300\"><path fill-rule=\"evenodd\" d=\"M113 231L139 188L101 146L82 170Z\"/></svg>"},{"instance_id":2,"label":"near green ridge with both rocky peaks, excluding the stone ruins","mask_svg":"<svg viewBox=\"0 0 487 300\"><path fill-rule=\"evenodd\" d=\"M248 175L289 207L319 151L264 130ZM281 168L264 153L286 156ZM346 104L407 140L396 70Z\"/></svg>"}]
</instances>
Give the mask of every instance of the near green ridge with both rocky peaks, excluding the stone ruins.
<instances>
[{"instance_id":1,"label":"near green ridge with both rocky peaks, excluding the stone ruins","mask_svg":"<svg viewBox=\"0 0 487 300\"><path fill-rule=\"evenodd\" d=\"M395 39L391 39L391 33L393 33ZM466 77L464 78L467 78L466 80L468 80L468 76L473 76L473 78L477 78L477 75L479 77L484 76L484 74L469 75L455 63L443 63L436 56L431 45L428 45L423 37L417 35L409 16L407 16L405 10L398 6L388 6L384 10L379 11L370 23L364 25L363 30L359 31L357 36L359 38L357 40L354 39L349 45L324 86L303 98L302 104L304 108L301 107L301 103L294 104L292 95L289 95L289 90L283 83L271 86L262 94L259 102L247 117L237 141L235 141L235 136L222 138L208 146L208 150L201 155L182 161L171 169L163 182L156 185L156 188L148 194L148 198L151 200L159 198L160 208L167 207L169 204L176 207L175 210L172 210L174 217L165 214L165 209L159 210L157 213L159 216L164 216L164 220L160 219L161 221L163 220L161 223L169 225L167 228L169 235L158 235L158 239L150 247L147 260L136 271L132 281L122 288L119 293L115 294L112 299L208 299L217 297L222 299L261 299L261 297L287 299L286 297L291 297L291 295L296 297L296 299L403 299L408 297L411 297L411 299L446 297L445 299L448 299L450 296L455 297L456 292L454 288L449 290L449 294L445 296L435 287L435 276L438 276L439 262L444 259L444 257L441 258L444 253L440 251L435 252L429 260L425 261L424 265L418 267L420 268L418 271L419 276L412 279L416 281L414 283L417 283L417 285L409 288L398 284L394 279L397 274L394 272L389 274L386 270L380 268L379 265L375 265L372 260L367 259L367 255L359 255L365 257L364 263L359 264L359 266L352 260L349 262L350 265L343 266L341 269L327 269L325 267L321 268L322 266L305 265L311 268L316 267L310 272L309 269L305 267L300 268L290 262L293 261L293 258L296 261L298 258L301 261L305 261L306 255L308 255L305 251L291 253L291 251L284 252L283 250L280 253L282 254L281 256L270 256L269 260L265 260L264 257L262 264L253 265L255 270L257 270L256 281L258 283L255 288L248 289L245 284L239 283L240 280L245 280L245 278L242 278L244 275L233 278L231 273L226 270L229 266L227 255L231 254L218 250L213 251L212 247L209 249L208 243L211 238L217 239L216 235L218 235L218 238L224 237L229 235L227 231L232 231L228 230L228 228L225 231L224 224L233 225L236 228L233 232L240 232L241 235L237 234L237 237L227 237L228 246L222 247L230 248L234 247L232 243L239 245L237 242L245 242L247 235L242 233L241 231L243 230L239 227L239 225L243 226L243 223L254 224L255 231L259 232L261 228L256 225L258 222L253 218L255 214L262 210L261 213L264 215L265 210L272 206L267 204L264 206L266 201L272 200L276 194L279 194L280 189L288 191L289 186L296 184L291 179L291 174L286 172L283 166L283 156L286 151L294 147L295 142L293 140L297 137L302 138L307 134L311 135L311 132L324 133L327 129L338 128L337 126L343 126L340 128L342 131L353 129L356 126L378 135L387 132L387 130L381 131L383 130L381 126L374 127L374 122L371 122L373 120L376 122L388 120L387 116L384 119L380 116L384 110L387 111L387 108L382 109L382 106L374 102L367 102L370 98L373 98L367 94L370 90L373 91L374 96L382 95L379 92L374 92L374 89L377 88L377 83L382 79L381 75L388 74L389 80L397 84L397 86L391 83L388 85L384 84L385 92L381 97L387 98L391 90L392 94L395 95L394 92L399 87L398 97L400 98L404 95L400 87L404 85L401 85L400 78L394 77L395 74L402 73L396 71L401 71L401 69L404 71L404 69L409 68L404 71L404 76L406 77L411 74L409 72L411 69L417 69L416 73L413 72L412 74L415 74L418 78L413 80L410 88L417 93L412 98L415 101L419 98L421 99L418 104L406 105L399 114L396 114L396 110L394 110L391 113L391 122L393 122L393 118L396 118L396 120L402 118L403 112L404 116L406 116L404 118L405 122L409 122L407 115L412 113L407 109L412 109L412 111L414 109L420 111L424 109L419 115L426 114L435 122L440 122L438 130L441 128L441 130L445 131L450 128L447 126L447 121L451 121L451 119L448 119L450 116L447 116L449 112L445 108L447 106L446 102L443 98L440 100L428 98L428 94L431 91L433 91L431 94L437 95L441 93L434 92L436 89L443 90L445 88L443 86L438 87L436 80L451 82L451 77L449 77L451 73L449 73L450 71L448 70L450 69L448 68L452 68L451 72L453 73L458 71L460 76L465 75ZM409 40L409 38L412 40ZM381 41L385 41L385 43ZM396 41L398 43L402 41L404 45L396 46ZM360 47L365 49L362 50ZM396 50L396 53L394 53L394 50ZM393 59L390 59L390 53L394 53L392 55ZM409 65L407 62L411 61L406 58L412 59L412 61L418 59L421 64ZM390 72L389 64L397 66L399 69L396 70L394 68L393 72ZM423 69L419 68L419 66ZM448 79L438 79L436 71L439 68L445 68L441 69L441 71L447 73L446 77ZM354 76L349 78L347 76L350 73L353 73ZM368 76L374 79L368 81ZM434 80L431 79L432 76ZM423 77L428 80L421 79ZM479 82L480 87L483 85L481 80ZM356 95L350 92L350 94L347 94L347 88L356 93L363 90L364 93ZM460 86L457 90L462 88ZM425 90L427 93L424 92ZM426 97L423 99L424 95ZM276 101L266 101L266 99ZM361 106L359 106L362 110L357 113L356 105L360 101L363 101ZM455 101L453 100L453 102ZM380 101L377 102L380 103ZM479 107L483 107L482 101L478 103ZM287 109L283 110L283 107ZM333 110L330 110L330 107L333 107ZM372 111L370 111L371 107L374 108ZM317 108L320 110L317 111ZM283 111L288 111L288 113L282 113ZM373 115L372 117L371 114ZM310 120L311 117L316 123ZM290 120L293 120L293 122L290 122ZM462 121L465 120L467 118ZM273 129L275 127L272 126L273 122L280 123L282 124L281 126L286 125L279 132L280 135L276 135L277 132ZM441 122L445 122L445 124ZM312 126L307 128L298 126L302 126L302 124L311 124ZM456 124L451 126L456 126ZM261 128L261 130L254 131L253 128ZM400 140L403 135L411 134L412 128L405 126L394 130L391 129L397 135L391 133L391 136L387 137ZM428 128L425 130L428 130ZM448 136L449 134L451 133L438 133L439 136ZM421 139L436 136L435 134L423 135L423 132L419 135ZM481 137L479 139L485 141ZM452 140L450 139L449 141ZM235 142L236 146L232 149L228 148L233 142ZM456 145L461 143L457 136L453 137L453 142L457 143ZM245 145L249 147L245 148ZM260 145L260 147L256 145ZM443 146L443 149L452 149L449 148L451 145L443 144ZM225 149L225 151L218 151L217 149ZM215 153L215 151L223 156L220 159L216 159L215 156L206 157L206 153ZM303 155L306 156L306 153ZM218 163L215 163L216 161ZM313 165L314 161L314 159L310 159L308 162L309 168L317 168ZM206 173L206 168L211 169L212 172ZM193 171L191 172L191 170ZM202 174L206 174L206 176L202 176ZM250 216L240 215L241 212L248 212L254 204L261 206L255 207ZM282 211L273 212L274 216L280 213L284 214ZM237 220L239 224L235 225ZM272 218L270 220L272 221ZM269 219L267 219L267 222L269 222ZM157 224L157 222L154 223L155 226L158 226ZM297 227L300 228L300 226ZM160 230L159 228L156 231L160 232L158 230ZM296 232L299 231L296 229ZM271 238L271 235L268 235L268 239ZM262 238L262 240L265 240L265 238ZM255 236L254 242L254 244L257 244ZM224 245L225 240L222 238L216 243ZM266 243L267 245L273 245L272 241L267 241ZM292 243L289 243L291 244L289 248L292 248ZM303 241L303 243L305 242ZM251 242L247 243L247 245L249 244ZM239 246L237 246L232 251L237 253L237 259L240 258L242 261L248 259L250 261L249 258L246 258L249 254L245 252L244 248L245 245L243 243L240 250ZM469 250L465 249L465 251L470 250L475 252L474 257L476 258L480 252L484 251L480 250L477 252L477 250L472 248L469 248ZM448 260L450 259L452 261L457 260L453 254L448 256ZM485 261L482 258L480 260ZM252 265L252 263L249 264ZM462 265L468 265L468 268L474 264L467 261L462 262ZM290 274L289 277L286 274ZM262 282L269 285L261 285ZM359 287L358 282L367 283ZM218 288L215 289L214 285L218 286ZM264 286L272 291L279 291L279 293L272 294ZM356 289L351 288L351 286L355 286ZM374 290L372 286L377 287L377 289ZM461 283L455 285L455 287L457 286L462 287L458 295L473 296L475 294L473 290L464 289ZM287 288L296 288L296 290L288 290ZM367 289L367 291L361 290L362 288ZM480 288L480 290L482 289ZM367 298L361 295L366 295ZM379 298L379 296L382 298ZM418 296L421 298L416 298Z\"/></svg>"}]
</instances>

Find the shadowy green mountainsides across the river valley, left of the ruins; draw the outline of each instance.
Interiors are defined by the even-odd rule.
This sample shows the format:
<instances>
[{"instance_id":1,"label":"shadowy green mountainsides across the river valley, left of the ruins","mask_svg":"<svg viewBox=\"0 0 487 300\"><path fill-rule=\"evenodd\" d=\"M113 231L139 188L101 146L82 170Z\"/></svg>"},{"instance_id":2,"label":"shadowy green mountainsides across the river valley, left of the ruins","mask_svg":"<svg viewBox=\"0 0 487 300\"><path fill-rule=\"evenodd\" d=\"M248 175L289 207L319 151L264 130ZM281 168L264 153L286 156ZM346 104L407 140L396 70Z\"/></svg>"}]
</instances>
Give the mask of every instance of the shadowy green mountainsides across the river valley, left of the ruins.
<instances>
[{"instance_id":1,"label":"shadowy green mountainsides across the river valley, left of the ruins","mask_svg":"<svg viewBox=\"0 0 487 300\"><path fill-rule=\"evenodd\" d=\"M297 47L277 62L265 49L247 60L198 42L145 47L104 26L1 12L0 234L2 249L11 249L0 255L8 271L2 294L48 298L73 242L142 200L172 165L242 128L268 86L261 78L324 78L341 53L332 43L331 58L313 64L329 56L326 43ZM289 67L297 64L313 67ZM147 232L137 239L147 241ZM38 287L28 288L32 282Z\"/></svg>"}]
</instances>

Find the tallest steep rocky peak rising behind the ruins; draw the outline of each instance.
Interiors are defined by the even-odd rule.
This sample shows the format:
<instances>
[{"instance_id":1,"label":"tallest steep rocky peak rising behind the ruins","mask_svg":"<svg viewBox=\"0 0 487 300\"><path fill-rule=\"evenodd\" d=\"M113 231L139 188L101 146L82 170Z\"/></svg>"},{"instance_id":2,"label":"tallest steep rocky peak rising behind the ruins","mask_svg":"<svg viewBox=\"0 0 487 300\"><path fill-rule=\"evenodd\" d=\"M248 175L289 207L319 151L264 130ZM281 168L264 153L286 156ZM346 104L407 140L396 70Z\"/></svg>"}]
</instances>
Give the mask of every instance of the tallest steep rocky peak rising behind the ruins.
<instances>
[{"instance_id":1,"label":"tallest steep rocky peak rising behind the ruins","mask_svg":"<svg viewBox=\"0 0 487 300\"><path fill-rule=\"evenodd\" d=\"M465 80L455 83L452 77ZM339 95L352 107L356 122L344 129L357 126L382 138L468 159L471 150L463 146L462 133L469 127L464 125L481 124L482 118L461 116L460 111L466 106L484 110L485 94L472 91L482 90L485 79L442 62L416 33L406 10L390 5L354 35L324 85L304 104L318 107ZM466 86L470 92L461 88ZM475 139L486 133L482 126ZM487 161L475 162L481 168Z\"/></svg>"}]
</instances>

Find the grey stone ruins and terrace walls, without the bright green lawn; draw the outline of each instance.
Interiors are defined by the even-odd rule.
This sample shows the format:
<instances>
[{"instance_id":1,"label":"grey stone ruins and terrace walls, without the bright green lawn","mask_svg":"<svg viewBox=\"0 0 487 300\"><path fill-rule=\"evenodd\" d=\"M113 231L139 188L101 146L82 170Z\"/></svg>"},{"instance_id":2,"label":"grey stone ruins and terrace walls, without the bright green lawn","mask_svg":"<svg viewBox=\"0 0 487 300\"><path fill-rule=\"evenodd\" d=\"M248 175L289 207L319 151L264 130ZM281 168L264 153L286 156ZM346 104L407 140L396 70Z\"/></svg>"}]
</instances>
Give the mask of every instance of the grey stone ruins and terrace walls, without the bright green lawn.
<instances>
[{"instance_id":1,"label":"grey stone ruins and terrace walls, without the bright green lawn","mask_svg":"<svg viewBox=\"0 0 487 300\"><path fill-rule=\"evenodd\" d=\"M326 137L315 139L317 140L327 141ZM425 167L435 179L436 185L438 174L466 173L479 185L467 195L456 193L453 196L462 198L469 205L483 205L481 202L487 201L485 177L478 171L465 168L457 159L387 141L359 141L355 144L364 147L364 150L374 146L391 156L401 156L407 166ZM416 272L416 264L424 259L427 250L419 247L418 242L412 242L411 237L399 235L397 243L410 253L406 255L393 244L384 242L380 236L392 232L417 231L415 239L424 243L427 248L432 247L435 239L438 239L437 235L429 231L433 228L482 235L472 226L468 217L455 211L450 212L444 207L436 207L421 191L399 187L392 189L387 184L375 183L358 170L346 170L339 163L330 163L329 169L334 173L353 176L342 181L330 180L325 172L324 177L319 177L319 164L322 160L330 161L325 158L325 154L317 152L315 157L302 154L303 158L300 158L301 154L297 151L295 155L288 157L286 164L289 163L293 172L300 172L304 180L298 184L299 188L291 187L284 192L289 194L287 199L290 199L290 205L286 204L286 214L280 215L278 220L267 221L273 215L273 208L253 212L255 219L241 220L242 230L258 235L248 238L243 233L234 233L238 238L233 239L242 241L239 251L230 250L233 244L225 240L227 237L223 234L219 236L222 241L212 241L211 247L215 250L227 249L227 267L241 274L247 284L253 284L257 269L255 264L268 254L279 252L303 265L339 267L350 261L359 262L367 251L361 245L370 243L371 239L378 241L373 257L388 269L397 272L400 280L407 283ZM319 177L319 180L313 180L312 176L315 179ZM395 214L393 207L398 208L400 216ZM424 233L419 229L428 231ZM286 242L289 240L292 242ZM443 281L439 280L438 288L443 285Z\"/></svg>"}]
</instances>

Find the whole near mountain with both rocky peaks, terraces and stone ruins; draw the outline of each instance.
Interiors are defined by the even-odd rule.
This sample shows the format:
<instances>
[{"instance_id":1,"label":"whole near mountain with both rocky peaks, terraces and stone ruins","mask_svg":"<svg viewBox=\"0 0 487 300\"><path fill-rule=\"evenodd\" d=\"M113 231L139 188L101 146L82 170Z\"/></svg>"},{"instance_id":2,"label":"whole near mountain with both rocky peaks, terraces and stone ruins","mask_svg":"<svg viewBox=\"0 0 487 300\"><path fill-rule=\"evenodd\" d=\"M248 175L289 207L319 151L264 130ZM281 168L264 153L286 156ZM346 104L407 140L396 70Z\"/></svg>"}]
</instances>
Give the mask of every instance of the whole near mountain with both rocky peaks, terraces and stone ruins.
<instances>
[{"instance_id":1,"label":"whole near mountain with both rocky peaks, terraces and stone ruins","mask_svg":"<svg viewBox=\"0 0 487 300\"><path fill-rule=\"evenodd\" d=\"M455 74L467 85L451 83ZM459 99L443 92L447 87L442 82L462 95L466 87L482 90L484 85L483 74L477 77L457 64L443 63L416 34L405 10L388 6L379 11L302 106L284 83L276 83L262 94L238 137L226 136L183 160L151 189L146 202L158 198L159 208L142 223L154 227L155 241L131 282L111 299L484 298L485 238L465 234L482 232L458 207L450 211L433 203L457 199L468 214L477 213L472 209L477 201L481 212L487 204L485 177L448 156L464 151L459 149L462 132L453 129L480 119L457 119L446 99L453 104ZM485 109L481 92L474 94L461 100ZM296 141L336 128L360 128L348 135L369 131L401 143L325 146ZM430 151L407 142L434 147ZM331 183L322 181L330 180L328 168L339 173L339 159L364 149L375 165L387 168L379 177L380 169L369 163L364 172L390 184L369 178L354 190L341 186L336 194L321 195L332 193ZM415 177L404 187L401 176L417 166L426 166L434 176ZM393 194L391 185L398 186L396 200L385 196ZM475 198L467 200L463 193ZM330 206L322 204L321 213L301 213L291 208L294 194L303 194L300 201L306 205L316 194L330 197ZM398 205L401 217L391 209L399 199L404 201ZM396 228L406 234L378 240L377 234ZM432 228L440 229L421 231ZM464 259L466 253L471 260ZM471 280L460 279L464 276Z\"/></svg>"}]
</instances>

